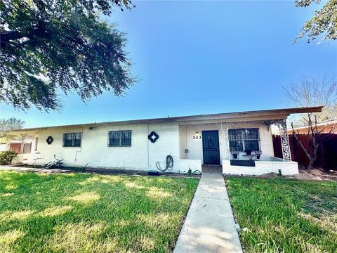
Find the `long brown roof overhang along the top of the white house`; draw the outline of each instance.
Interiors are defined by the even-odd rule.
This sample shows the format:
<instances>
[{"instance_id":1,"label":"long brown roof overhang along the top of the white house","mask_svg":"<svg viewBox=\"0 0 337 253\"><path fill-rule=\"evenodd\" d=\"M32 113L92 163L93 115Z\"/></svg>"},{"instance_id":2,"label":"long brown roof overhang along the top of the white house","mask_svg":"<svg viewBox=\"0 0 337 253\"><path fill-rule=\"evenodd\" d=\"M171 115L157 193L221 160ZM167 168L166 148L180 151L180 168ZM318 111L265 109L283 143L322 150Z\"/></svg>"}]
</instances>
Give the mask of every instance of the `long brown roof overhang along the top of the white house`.
<instances>
[{"instance_id":1,"label":"long brown roof overhang along the top of the white house","mask_svg":"<svg viewBox=\"0 0 337 253\"><path fill-rule=\"evenodd\" d=\"M286 119L291 114L322 112L323 106L306 107L306 108L285 108L272 110L255 110L247 112L226 112L209 115L192 115L180 117L165 117L155 119L134 119L116 122L100 122L88 124L70 124L61 126L35 127L29 129L15 129L8 131L13 132L34 132L46 129L70 129L70 128L87 128L98 126L114 126L128 124L154 124L154 123L178 123L178 124L195 124L197 122L249 122L249 121L275 121L277 119Z\"/></svg>"}]
</instances>

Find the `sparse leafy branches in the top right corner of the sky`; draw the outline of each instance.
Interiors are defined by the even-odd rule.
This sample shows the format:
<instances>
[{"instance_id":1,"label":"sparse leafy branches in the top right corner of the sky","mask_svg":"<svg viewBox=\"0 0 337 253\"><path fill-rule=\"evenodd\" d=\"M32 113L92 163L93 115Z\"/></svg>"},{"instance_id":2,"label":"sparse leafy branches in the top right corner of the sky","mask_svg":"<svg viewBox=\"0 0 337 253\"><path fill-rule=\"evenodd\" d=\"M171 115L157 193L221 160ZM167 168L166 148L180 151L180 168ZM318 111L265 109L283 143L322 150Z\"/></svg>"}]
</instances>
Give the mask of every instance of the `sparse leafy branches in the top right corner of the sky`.
<instances>
[{"instance_id":1,"label":"sparse leafy branches in the top right corner of the sky","mask_svg":"<svg viewBox=\"0 0 337 253\"><path fill-rule=\"evenodd\" d=\"M320 0L296 0L296 7L308 7L312 2L320 4ZM308 34L308 42L324 34L323 39L337 39L337 0L329 0L315 15L305 22L296 41Z\"/></svg>"}]
</instances>

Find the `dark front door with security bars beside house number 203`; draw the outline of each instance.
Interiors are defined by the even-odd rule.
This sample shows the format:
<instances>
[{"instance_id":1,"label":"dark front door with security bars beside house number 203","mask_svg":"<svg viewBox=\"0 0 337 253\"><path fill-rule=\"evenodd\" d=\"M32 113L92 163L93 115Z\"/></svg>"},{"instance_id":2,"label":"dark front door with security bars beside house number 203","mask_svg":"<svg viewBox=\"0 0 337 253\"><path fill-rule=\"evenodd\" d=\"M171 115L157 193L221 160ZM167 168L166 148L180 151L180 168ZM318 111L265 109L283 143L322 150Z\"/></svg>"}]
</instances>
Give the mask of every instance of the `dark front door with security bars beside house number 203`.
<instances>
[{"instance_id":1,"label":"dark front door with security bars beside house number 203","mask_svg":"<svg viewBox=\"0 0 337 253\"><path fill-rule=\"evenodd\" d=\"M219 132L202 131L202 147L204 150L204 164L219 165Z\"/></svg>"}]
</instances>

